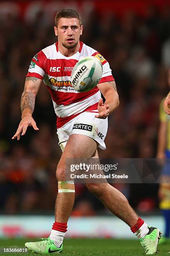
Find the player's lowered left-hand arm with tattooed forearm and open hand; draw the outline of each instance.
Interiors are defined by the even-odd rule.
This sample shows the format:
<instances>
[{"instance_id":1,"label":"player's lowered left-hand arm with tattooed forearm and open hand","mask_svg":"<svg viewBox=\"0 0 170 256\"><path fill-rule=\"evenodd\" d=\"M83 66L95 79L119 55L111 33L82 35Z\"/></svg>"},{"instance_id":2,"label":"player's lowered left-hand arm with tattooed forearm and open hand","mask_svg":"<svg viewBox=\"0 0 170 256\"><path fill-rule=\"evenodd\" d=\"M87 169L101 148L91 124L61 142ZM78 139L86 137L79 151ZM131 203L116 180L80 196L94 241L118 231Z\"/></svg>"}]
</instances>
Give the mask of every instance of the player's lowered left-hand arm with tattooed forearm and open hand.
<instances>
[{"instance_id":1,"label":"player's lowered left-hand arm with tattooed forearm and open hand","mask_svg":"<svg viewBox=\"0 0 170 256\"><path fill-rule=\"evenodd\" d=\"M27 131L28 126L32 126L36 131L39 129L32 118L32 113L35 106L35 97L40 88L42 80L36 77L26 77L25 87L21 96L21 121L18 129L12 139L20 139L20 134L23 136Z\"/></svg>"}]
</instances>

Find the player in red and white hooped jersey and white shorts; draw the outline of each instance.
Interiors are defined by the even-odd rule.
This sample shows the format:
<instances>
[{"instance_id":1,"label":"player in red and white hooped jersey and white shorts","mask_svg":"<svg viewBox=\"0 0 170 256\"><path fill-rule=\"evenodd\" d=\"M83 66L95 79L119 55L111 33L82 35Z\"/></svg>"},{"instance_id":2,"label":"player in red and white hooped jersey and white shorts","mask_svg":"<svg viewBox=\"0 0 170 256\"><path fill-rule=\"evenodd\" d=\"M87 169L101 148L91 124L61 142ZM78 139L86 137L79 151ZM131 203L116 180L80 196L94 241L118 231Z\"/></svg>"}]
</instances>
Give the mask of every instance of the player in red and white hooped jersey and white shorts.
<instances>
[{"instance_id":1,"label":"player in red and white hooped jersey and white shorts","mask_svg":"<svg viewBox=\"0 0 170 256\"><path fill-rule=\"evenodd\" d=\"M58 193L55 207L55 223L49 238L28 242L25 246L40 254L60 253L67 231L67 220L75 200L74 182L65 180L66 159L98 158L97 148L105 149L104 138L107 133L107 116L119 105L115 80L108 62L99 52L83 44L80 15L75 10L60 10L55 17L55 36L58 41L42 49L32 59L26 76L25 88L21 97L21 121L13 139L20 139L32 126L39 130L32 118L35 97L42 82L50 92L57 115L57 135L62 156L57 165L56 177ZM85 56L100 59L103 67L102 78L89 92L77 92L72 88L70 75L73 67ZM105 103L101 94L105 97ZM81 127L80 125L83 124ZM84 127L91 129L83 129ZM102 133L101 138L97 136ZM121 192L108 183L90 183L87 188L98 197L105 207L130 226L140 239L146 254L157 251L160 231L138 217ZM114 228L114 227L113 227Z\"/></svg>"}]
</instances>

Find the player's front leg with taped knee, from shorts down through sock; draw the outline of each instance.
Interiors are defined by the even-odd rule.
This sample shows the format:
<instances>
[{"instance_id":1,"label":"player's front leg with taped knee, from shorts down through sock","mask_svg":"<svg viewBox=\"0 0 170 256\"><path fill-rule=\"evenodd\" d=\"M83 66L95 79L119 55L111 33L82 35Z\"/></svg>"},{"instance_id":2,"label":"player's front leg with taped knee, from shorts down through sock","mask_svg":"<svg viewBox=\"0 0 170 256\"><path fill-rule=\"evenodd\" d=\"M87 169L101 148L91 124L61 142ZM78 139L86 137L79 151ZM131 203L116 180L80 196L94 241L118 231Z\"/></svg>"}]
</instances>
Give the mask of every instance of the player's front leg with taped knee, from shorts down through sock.
<instances>
[{"instance_id":1,"label":"player's front leg with taped knee, from shorts down through sock","mask_svg":"<svg viewBox=\"0 0 170 256\"><path fill-rule=\"evenodd\" d=\"M57 247L62 243L67 231L67 220L70 217L75 200L73 181L65 179L65 163L67 159L91 158L96 151L97 143L90 137L72 134L67 141L61 159L57 166L58 194L55 206L55 223L53 224L50 239Z\"/></svg>"}]
</instances>

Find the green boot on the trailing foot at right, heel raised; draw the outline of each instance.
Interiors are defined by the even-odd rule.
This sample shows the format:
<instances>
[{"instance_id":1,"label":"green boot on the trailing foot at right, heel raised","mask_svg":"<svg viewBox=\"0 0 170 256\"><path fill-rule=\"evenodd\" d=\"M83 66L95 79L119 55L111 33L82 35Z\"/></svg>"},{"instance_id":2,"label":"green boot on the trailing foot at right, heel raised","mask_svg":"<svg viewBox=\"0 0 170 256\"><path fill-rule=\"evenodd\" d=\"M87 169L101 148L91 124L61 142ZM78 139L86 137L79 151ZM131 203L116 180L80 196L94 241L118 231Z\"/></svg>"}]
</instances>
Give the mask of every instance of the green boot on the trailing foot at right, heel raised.
<instances>
[{"instance_id":1,"label":"green boot on the trailing foot at right, heel raised","mask_svg":"<svg viewBox=\"0 0 170 256\"><path fill-rule=\"evenodd\" d=\"M140 238L140 243L145 250L146 255L157 253L158 241L161 237L159 228L149 228L149 232L144 238Z\"/></svg>"}]
</instances>

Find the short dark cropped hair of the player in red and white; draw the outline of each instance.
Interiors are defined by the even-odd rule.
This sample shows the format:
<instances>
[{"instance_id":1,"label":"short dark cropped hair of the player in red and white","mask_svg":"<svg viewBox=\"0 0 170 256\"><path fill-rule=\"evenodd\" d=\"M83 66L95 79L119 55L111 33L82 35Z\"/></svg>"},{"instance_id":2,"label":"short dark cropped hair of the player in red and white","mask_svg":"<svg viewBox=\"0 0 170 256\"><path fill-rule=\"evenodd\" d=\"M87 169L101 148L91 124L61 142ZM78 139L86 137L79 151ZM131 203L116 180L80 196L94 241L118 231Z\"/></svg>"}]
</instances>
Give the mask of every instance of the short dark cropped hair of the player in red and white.
<instances>
[{"instance_id":1,"label":"short dark cropped hair of the player in red and white","mask_svg":"<svg viewBox=\"0 0 170 256\"><path fill-rule=\"evenodd\" d=\"M81 26L81 17L80 14L76 12L76 10L71 9L63 9L57 12L55 16L55 26L58 26L58 20L60 18L77 18L79 20L80 26Z\"/></svg>"}]
</instances>

